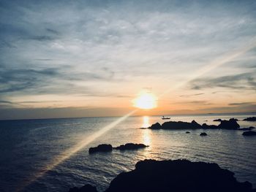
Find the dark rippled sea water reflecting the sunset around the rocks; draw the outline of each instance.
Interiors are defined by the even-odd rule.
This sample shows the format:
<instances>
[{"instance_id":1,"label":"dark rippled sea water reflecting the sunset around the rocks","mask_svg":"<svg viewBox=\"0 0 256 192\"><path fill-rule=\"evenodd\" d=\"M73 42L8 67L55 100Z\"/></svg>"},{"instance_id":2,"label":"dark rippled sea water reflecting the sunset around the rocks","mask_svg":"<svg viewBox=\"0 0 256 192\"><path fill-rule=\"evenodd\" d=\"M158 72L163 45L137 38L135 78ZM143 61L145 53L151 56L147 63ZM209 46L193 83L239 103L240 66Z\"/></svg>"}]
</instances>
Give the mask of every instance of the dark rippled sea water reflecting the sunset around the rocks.
<instances>
[{"instance_id":1,"label":"dark rippled sea water reflecting the sunset around the rocks","mask_svg":"<svg viewBox=\"0 0 256 192\"><path fill-rule=\"evenodd\" d=\"M252 115L190 115L171 116L171 120L196 120L197 123L217 125L218 122L213 122L216 118L242 120L249 116ZM248 180L256 188L256 137L244 137L243 131L206 130L208 136L200 137L203 130L185 134L184 130L141 129L152 123L163 123L165 120L159 116L129 117L77 153L72 154L69 150L82 139L91 139L92 134L117 119L0 121L0 191L68 191L86 183L104 191L117 174L134 169L136 162L146 158L185 158L217 163L235 172L239 181ZM256 126L255 122L238 123L241 127ZM88 153L89 147L102 143L118 146L127 142L143 143L149 147ZM70 153L69 158L53 166L65 151Z\"/></svg>"}]
</instances>

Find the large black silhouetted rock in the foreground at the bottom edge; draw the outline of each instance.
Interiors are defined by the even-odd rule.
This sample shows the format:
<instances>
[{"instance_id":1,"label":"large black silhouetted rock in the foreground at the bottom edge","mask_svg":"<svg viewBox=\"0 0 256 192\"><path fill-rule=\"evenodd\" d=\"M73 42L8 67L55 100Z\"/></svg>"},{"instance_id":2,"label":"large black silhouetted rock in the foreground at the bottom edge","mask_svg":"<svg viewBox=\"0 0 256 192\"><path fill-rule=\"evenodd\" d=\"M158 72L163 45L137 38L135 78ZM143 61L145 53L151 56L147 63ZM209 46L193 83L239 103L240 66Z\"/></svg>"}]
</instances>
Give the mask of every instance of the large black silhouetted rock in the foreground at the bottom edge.
<instances>
[{"instance_id":1,"label":"large black silhouetted rock in the foreground at the bottom edge","mask_svg":"<svg viewBox=\"0 0 256 192\"><path fill-rule=\"evenodd\" d=\"M187 160L139 161L135 169L113 179L105 192L252 192L252 184L239 183L234 173L217 164Z\"/></svg>"}]
</instances>

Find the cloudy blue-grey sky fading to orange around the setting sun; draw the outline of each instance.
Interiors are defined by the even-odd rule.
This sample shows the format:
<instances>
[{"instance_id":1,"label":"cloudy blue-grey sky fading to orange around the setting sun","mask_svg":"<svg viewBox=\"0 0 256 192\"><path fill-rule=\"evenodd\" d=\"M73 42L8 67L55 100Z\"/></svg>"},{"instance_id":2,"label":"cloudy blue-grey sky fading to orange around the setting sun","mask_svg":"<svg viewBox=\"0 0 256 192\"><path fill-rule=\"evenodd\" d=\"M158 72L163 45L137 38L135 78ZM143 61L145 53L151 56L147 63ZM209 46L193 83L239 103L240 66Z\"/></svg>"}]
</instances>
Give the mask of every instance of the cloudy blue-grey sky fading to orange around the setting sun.
<instances>
[{"instance_id":1,"label":"cloudy blue-grey sky fading to orange around the setting sun","mask_svg":"<svg viewBox=\"0 0 256 192\"><path fill-rule=\"evenodd\" d=\"M256 112L256 1L0 1L0 119Z\"/></svg>"}]
</instances>

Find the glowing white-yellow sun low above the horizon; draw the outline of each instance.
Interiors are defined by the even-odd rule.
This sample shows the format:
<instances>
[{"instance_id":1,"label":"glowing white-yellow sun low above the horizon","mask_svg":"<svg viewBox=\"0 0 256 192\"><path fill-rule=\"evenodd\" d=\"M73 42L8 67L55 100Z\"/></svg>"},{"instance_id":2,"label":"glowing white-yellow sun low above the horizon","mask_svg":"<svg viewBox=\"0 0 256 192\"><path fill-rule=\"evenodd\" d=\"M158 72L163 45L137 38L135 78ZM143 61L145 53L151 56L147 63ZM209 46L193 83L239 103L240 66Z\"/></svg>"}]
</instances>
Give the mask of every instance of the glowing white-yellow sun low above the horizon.
<instances>
[{"instance_id":1,"label":"glowing white-yellow sun low above the horizon","mask_svg":"<svg viewBox=\"0 0 256 192\"><path fill-rule=\"evenodd\" d=\"M140 93L138 98L133 100L133 106L143 110L151 110L157 107L157 97L152 93Z\"/></svg>"}]
</instances>

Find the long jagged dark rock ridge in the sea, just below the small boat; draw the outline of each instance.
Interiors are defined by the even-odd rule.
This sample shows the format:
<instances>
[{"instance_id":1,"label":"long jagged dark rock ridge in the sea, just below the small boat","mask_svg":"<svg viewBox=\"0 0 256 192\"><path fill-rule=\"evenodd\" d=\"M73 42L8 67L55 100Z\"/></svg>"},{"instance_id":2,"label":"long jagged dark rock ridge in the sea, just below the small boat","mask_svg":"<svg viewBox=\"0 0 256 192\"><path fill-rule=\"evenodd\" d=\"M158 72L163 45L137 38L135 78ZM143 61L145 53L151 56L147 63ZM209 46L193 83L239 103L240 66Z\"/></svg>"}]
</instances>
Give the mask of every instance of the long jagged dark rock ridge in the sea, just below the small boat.
<instances>
[{"instance_id":1,"label":"long jagged dark rock ridge in the sea, just below the small boat","mask_svg":"<svg viewBox=\"0 0 256 192\"><path fill-rule=\"evenodd\" d=\"M196 128L225 128L225 129L237 129L239 128L239 124L236 122L237 119L231 118L230 120L221 120L219 126L214 125L207 125L206 123L203 123L201 126L199 123L197 123L195 120L192 120L191 123L184 122L184 121L167 121L165 123L162 123L162 126L160 123L154 123L152 126L148 127L151 129L196 129Z\"/></svg>"}]
</instances>

